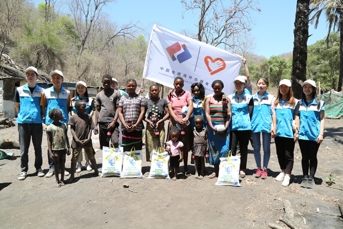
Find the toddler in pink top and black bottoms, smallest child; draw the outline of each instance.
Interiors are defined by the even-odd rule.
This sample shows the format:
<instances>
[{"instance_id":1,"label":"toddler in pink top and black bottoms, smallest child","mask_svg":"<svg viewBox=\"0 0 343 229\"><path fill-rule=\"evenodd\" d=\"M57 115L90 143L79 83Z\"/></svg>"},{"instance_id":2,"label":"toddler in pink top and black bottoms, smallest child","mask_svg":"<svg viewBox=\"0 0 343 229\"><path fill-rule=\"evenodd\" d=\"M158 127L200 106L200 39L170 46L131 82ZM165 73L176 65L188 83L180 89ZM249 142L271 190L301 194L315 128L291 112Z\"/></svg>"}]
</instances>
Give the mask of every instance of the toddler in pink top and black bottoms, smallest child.
<instances>
[{"instance_id":1,"label":"toddler in pink top and black bottoms, smallest child","mask_svg":"<svg viewBox=\"0 0 343 229\"><path fill-rule=\"evenodd\" d=\"M182 162L183 160L183 151L181 150L181 148L183 147L183 143L179 141L180 130L177 127L173 126L171 128L170 136L172 140L167 142L170 148L166 147L166 151L170 152L170 155L171 155L169 159L170 167L172 170L171 178L172 180L176 180L177 179L176 176L179 172L180 162Z\"/></svg>"}]
</instances>

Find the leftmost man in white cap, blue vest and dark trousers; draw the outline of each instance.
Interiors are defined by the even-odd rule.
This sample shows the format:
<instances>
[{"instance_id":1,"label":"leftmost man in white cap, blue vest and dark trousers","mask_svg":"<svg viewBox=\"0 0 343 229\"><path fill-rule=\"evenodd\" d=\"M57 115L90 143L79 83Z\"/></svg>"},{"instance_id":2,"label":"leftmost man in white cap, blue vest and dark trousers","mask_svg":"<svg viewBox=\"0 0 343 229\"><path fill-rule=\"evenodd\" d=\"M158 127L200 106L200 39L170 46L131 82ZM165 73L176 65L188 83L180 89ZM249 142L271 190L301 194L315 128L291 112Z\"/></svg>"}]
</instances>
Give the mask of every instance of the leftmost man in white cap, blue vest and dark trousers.
<instances>
[{"instance_id":1,"label":"leftmost man in white cap, blue vest and dark trousers","mask_svg":"<svg viewBox=\"0 0 343 229\"><path fill-rule=\"evenodd\" d=\"M34 167L38 177L44 177L42 170L42 137L43 137L43 115L41 113L40 101L43 88L36 83L38 71L35 67L28 67L25 71L27 83L18 87L13 102L18 112L17 124L20 143L20 167L22 172L18 179L24 180L28 170L28 148L32 136L32 144L35 153Z\"/></svg>"}]
</instances>

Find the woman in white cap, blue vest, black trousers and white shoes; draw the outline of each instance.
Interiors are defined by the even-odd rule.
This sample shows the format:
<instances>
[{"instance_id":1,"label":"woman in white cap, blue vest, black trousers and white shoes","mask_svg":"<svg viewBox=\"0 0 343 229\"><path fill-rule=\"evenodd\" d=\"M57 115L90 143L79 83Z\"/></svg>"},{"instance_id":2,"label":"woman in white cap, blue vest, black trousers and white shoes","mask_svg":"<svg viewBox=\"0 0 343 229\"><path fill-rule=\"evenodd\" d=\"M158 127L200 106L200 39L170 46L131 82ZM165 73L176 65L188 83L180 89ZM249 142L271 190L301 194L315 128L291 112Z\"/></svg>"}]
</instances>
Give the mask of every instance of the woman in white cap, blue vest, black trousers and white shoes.
<instances>
[{"instance_id":1,"label":"woman in white cap, blue vest, black trousers and white shoes","mask_svg":"<svg viewBox=\"0 0 343 229\"><path fill-rule=\"evenodd\" d=\"M293 126L294 116L298 114L298 100L293 97L292 83L289 79L282 79L279 91L273 106L276 113L276 154L279 160L281 173L275 180L283 181L283 186L288 186L294 164L294 145L298 138L298 130Z\"/></svg>"}]
</instances>

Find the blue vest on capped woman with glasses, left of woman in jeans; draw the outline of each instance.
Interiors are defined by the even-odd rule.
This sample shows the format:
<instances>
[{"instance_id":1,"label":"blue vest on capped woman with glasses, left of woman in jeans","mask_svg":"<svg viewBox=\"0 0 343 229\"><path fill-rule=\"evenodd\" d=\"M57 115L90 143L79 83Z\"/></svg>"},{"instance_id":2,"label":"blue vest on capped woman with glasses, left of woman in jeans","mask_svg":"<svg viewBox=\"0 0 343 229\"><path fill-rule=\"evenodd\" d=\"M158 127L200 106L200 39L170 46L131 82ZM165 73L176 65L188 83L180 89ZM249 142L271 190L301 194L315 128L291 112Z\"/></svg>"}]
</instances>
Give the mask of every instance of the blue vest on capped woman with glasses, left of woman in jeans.
<instances>
[{"instance_id":1,"label":"blue vest on capped woman with glasses, left of woman in jeans","mask_svg":"<svg viewBox=\"0 0 343 229\"><path fill-rule=\"evenodd\" d=\"M251 129L249 102L252 95L243 92L240 98L237 98L237 92L229 95L231 101L232 119L230 123L230 130L249 130Z\"/></svg>"}]
</instances>

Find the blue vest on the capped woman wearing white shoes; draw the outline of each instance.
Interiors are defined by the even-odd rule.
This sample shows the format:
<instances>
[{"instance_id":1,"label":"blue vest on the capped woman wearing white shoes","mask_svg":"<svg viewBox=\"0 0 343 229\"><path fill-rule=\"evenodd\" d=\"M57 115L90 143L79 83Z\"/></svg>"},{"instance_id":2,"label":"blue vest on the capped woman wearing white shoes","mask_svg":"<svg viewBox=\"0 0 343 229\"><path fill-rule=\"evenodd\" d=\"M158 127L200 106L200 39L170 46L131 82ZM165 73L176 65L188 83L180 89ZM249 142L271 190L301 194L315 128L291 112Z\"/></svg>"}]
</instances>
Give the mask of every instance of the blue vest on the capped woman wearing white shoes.
<instances>
[{"instance_id":1,"label":"blue vest on the capped woman wearing white shoes","mask_svg":"<svg viewBox=\"0 0 343 229\"><path fill-rule=\"evenodd\" d=\"M281 99L275 107L276 113L276 137L294 138L292 122L294 119L294 109L299 102L297 99L292 106L286 100L283 104Z\"/></svg>"}]
</instances>

